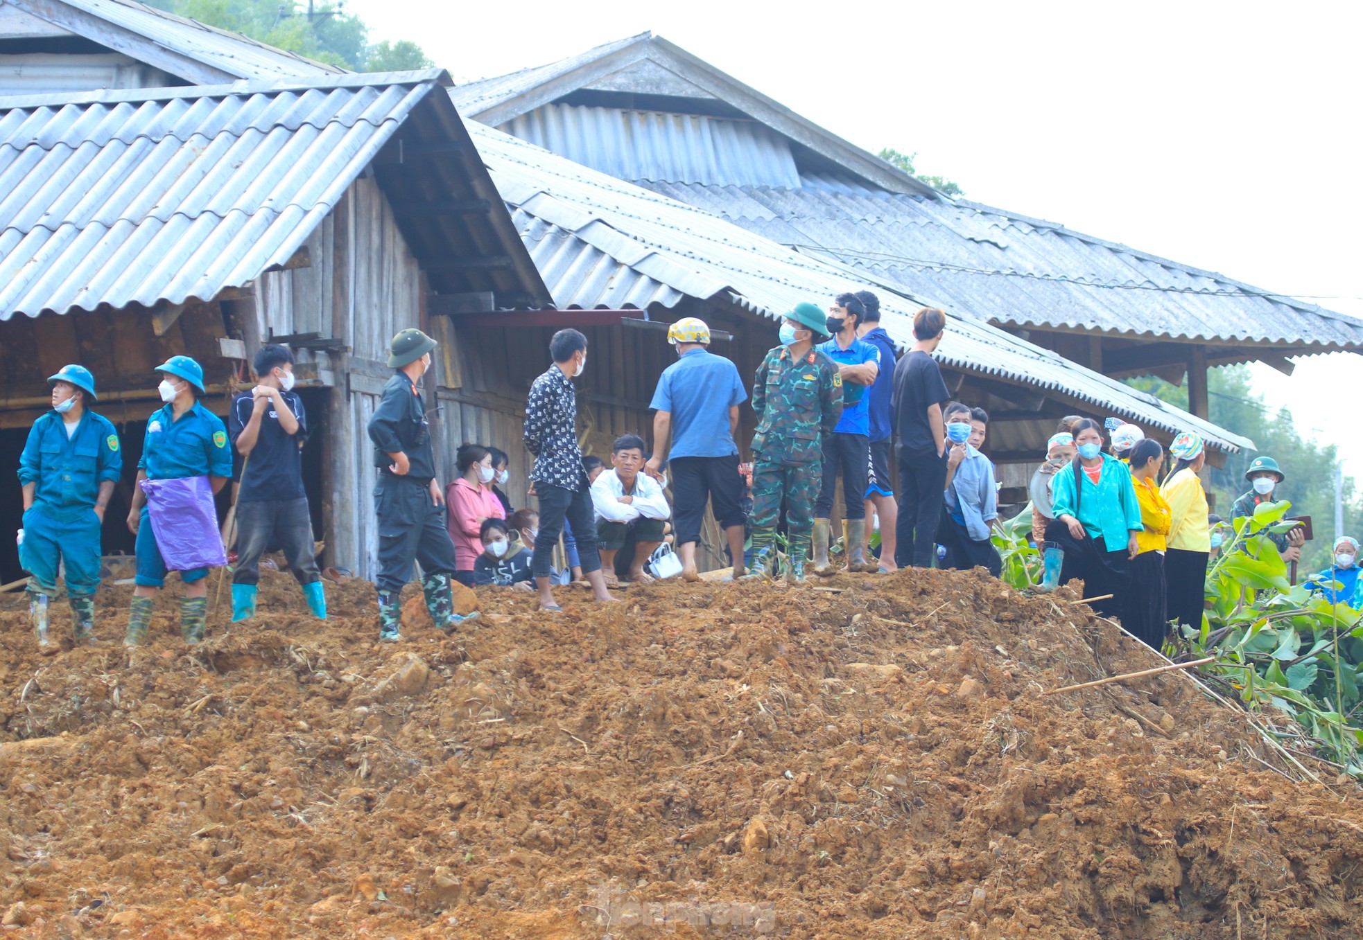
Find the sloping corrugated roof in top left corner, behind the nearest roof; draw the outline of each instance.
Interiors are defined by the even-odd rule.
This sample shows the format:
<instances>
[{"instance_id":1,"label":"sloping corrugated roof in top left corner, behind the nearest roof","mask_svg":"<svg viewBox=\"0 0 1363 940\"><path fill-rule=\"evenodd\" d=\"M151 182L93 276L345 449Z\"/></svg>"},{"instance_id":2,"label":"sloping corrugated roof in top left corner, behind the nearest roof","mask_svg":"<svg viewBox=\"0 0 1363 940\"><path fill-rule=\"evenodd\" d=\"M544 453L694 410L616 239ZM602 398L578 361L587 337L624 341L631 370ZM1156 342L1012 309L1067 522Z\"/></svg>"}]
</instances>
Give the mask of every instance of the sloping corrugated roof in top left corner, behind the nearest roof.
<instances>
[{"instance_id":1,"label":"sloping corrugated roof in top left corner, behind the nearest roof","mask_svg":"<svg viewBox=\"0 0 1363 940\"><path fill-rule=\"evenodd\" d=\"M89 30L89 18L97 18L120 30L128 30L151 40L155 45L176 54L185 56L209 65L221 78L289 78L303 75L339 75L343 68L327 65L296 56L292 52L256 42L240 33L229 33L206 26L184 16L168 14L164 10L147 7L132 0L7 0L14 7L56 23L79 35ZM116 35L90 35L95 42L108 44ZM127 52L125 49L119 49ZM135 53L131 53L136 57ZM158 67L162 64L153 63ZM166 68L172 74L174 68Z\"/></svg>"}]
</instances>

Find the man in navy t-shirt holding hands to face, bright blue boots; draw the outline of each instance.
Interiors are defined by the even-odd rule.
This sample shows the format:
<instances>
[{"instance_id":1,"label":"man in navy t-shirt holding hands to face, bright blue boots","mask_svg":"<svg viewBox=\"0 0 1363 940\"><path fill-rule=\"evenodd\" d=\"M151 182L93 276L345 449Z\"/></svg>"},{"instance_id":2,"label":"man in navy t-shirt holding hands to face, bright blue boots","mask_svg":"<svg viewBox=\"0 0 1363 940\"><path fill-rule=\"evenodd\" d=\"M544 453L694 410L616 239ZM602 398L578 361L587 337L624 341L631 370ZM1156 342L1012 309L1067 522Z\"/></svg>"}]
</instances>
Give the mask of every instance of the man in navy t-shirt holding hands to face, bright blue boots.
<instances>
[{"instance_id":1,"label":"man in navy t-shirt holding hands to face, bright blue boots","mask_svg":"<svg viewBox=\"0 0 1363 940\"><path fill-rule=\"evenodd\" d=\"M313 556L312 514L303 489L308 418L293 391L293 353L267 343L252 362L256 386L232 399L228 437L244 458L237 489L237 567L232 574L232 621L255 616L260 556L284 548L313 617L326 620L327 598Z\"/></svg>"}]
</instances>

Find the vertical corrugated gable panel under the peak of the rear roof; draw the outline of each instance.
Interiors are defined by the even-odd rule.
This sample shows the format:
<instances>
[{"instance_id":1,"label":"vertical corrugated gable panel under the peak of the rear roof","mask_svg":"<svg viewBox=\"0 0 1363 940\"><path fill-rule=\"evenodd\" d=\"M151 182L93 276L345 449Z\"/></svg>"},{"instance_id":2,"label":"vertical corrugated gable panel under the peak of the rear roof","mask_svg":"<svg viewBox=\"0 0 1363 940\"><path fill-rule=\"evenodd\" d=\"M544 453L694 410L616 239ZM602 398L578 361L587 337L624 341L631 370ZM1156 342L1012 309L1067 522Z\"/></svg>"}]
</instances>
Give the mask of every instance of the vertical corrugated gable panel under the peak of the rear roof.
<instances>
[{"instance_id":1,"label":"vertical corrugated gable panel under the peak of the rear roof","mask_svg":"<svg viewBox=\"0 0 1363 940\"><path fill-rule=\"evenodd\" d=\"M791 144L756 121L544 105L500 129L622 180L800 187Z\"/></svg>"}]
</instances>

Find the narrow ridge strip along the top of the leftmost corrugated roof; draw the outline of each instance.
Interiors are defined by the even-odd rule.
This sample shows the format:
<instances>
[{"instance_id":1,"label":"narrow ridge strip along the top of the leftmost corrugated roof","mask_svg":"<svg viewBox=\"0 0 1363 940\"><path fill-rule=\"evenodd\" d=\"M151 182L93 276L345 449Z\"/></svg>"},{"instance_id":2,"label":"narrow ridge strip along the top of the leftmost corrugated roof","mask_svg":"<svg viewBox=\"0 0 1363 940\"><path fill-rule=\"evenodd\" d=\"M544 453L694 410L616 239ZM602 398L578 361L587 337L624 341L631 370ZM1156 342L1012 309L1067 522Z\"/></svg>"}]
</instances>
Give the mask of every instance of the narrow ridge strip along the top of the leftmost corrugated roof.
<instances>
[{"instance_id":1,"label":"narrow ridge strip along the top of the leftmost corrugated roof","mask_svg":"<svg viewBox=\"0 0 1363 940\"><path fill-rule=\"evenodd\" d=\"M177 98L233 98L252 94L281 94L285 91L327 91L335 89L427 83L448 87L450 74L443 68L423 68L406 72L346 72L345 75L316 78L240 79L230 84L188 84L169 89L98 89L93 91L70 91L65 94L0 95L0 112L23 108L116 105L138 101L174 101Z\"/></svg>"}]
</instances>

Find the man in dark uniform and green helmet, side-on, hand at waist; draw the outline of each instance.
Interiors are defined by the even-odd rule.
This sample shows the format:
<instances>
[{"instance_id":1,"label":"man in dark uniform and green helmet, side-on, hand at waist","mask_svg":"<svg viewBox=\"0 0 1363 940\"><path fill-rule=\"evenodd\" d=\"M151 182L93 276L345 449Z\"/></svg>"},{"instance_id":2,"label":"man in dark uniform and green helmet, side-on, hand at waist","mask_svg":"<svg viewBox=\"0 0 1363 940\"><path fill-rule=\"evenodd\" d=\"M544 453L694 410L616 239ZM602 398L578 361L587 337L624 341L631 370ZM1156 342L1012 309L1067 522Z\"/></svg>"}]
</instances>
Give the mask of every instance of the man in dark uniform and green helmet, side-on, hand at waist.
<instances>
[{"instance_id":1,"label":"man in dark uniform and green helmet, side-on, hand at waist","mask_svg":"<svg viewBox=\"0 0 1363 940\"><path fill-rule=\"evenodd\" d=\"M420 330L403 330L393 338L388 368L397 373L383 388L383 399L369 418L373 465L373 508L379 514L379 639L402 636L402 587L412 580L412 563L421 565L421 591L431 620L448 632L463 620L455 617L450 599L454 576L454 542L444 518L444 492L435 478L435 451L425 405L417 381L431 368L436 342Z\"/></svg>"}]
</instances>

